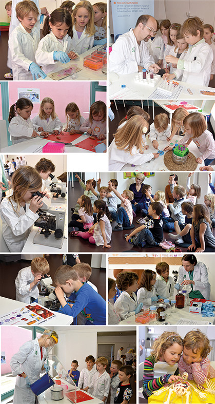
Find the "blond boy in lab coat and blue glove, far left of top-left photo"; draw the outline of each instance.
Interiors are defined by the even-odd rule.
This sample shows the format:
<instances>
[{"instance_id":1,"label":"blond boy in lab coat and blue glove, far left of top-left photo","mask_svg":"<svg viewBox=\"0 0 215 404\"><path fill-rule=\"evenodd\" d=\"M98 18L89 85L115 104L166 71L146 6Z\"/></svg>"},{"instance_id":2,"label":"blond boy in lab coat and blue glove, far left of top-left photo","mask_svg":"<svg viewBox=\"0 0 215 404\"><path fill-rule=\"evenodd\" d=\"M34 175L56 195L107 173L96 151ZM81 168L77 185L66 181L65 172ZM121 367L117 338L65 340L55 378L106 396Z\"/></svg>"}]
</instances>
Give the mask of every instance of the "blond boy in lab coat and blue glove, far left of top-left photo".
<instances>
[{"instance_id":1,"label":"blond boy in lab coat and blue glove, far left of top-left photo","mask_svg":"<svg viewBox=\"0 0 215 404\"><path fill-rule=\"evenodd\" d=\"M32 80L46 74L35 63L35 52L40 42L40 32L34 27L39 14L36 5L24 0L16 6L19 25L11 32L8 46L12 57L13 80Z\"/></svg>"}]
</instances>

